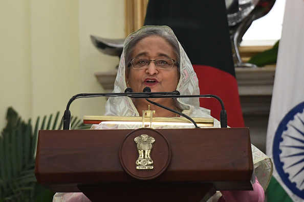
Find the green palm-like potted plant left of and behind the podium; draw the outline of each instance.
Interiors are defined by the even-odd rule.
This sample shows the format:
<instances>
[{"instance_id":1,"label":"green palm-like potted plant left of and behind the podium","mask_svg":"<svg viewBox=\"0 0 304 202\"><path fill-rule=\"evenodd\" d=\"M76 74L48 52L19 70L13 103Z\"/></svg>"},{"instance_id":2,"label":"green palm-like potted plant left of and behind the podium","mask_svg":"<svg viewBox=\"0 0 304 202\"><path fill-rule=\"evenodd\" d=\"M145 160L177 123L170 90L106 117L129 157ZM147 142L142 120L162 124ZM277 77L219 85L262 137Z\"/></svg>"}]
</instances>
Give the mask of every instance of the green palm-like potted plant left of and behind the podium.
<instances>
[{"instance_id":1,"label":"green palm-like potted plant left of and behind the podium","mask_svg":"<svg viewBox=\"0 0 304 202\"><path fill-rule=\"evenodd\" d=\"M31 119L26 123L8 108L7 125L0 136L0 202L52 201L54 193L37 184L35 153L38 131L56 129L58 119L59 112L54 120L53 115L44 116L40 125L40 117L37 117L32 128ZM77 117L71 120L73 129L91 127L82 124Z\"/></svg>"}]
</instances>

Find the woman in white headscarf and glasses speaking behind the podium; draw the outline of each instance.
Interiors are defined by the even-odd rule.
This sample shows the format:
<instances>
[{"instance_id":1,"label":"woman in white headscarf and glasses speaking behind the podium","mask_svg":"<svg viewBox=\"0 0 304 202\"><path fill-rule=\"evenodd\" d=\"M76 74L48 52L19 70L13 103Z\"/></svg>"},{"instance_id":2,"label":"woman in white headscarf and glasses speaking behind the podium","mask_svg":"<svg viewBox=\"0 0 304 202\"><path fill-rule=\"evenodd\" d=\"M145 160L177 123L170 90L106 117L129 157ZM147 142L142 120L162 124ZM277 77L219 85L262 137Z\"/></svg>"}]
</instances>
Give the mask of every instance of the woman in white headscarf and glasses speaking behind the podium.
<instances>
[{"instance_id":1,"label":"woman in white headscarf and glasses speaking behind the podium","mask_svg":"<svg viewBox=\"0 0 304 202\"><path fill-rule=\"evenodd\" d=\"M184 49L173 31L166 26L145 26L129 35L124 42L118 73L113 92L124 92L130 87L133 92L143 92L149 87L152 92L172 92L178 90L181 95L199 94L197 75ZM199 98L154 98L154 102L190 117L211 117L210 111L199 106ZM142 116L142 111L150 105L145 99L129 97L110 97L105 105L108 116ZM157 117L178 117L171 111L155 105ZM140 125L93 125L92 129L135 129ZM220 128L220 122L214 119L214 127ZM156 125L154 128L186 128L179 125ZM193 127L188 127L193 128ZM253 191L216 192L208 201L264 201L272 167L269 158L252 146L255 168ZM258 152L255 152L255 151ZM53 201L89 201L82 193L56 193Z\"/></svg>"}]
</instances>

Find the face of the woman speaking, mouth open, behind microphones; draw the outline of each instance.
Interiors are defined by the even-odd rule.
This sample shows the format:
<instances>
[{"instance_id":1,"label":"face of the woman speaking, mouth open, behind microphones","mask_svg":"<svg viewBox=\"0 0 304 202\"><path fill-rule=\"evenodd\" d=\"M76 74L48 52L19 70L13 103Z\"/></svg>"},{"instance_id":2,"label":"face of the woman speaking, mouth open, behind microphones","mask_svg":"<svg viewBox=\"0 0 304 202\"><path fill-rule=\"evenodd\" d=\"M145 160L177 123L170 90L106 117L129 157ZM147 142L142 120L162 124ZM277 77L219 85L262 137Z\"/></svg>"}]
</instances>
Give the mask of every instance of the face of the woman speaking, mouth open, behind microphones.
<instances>
[{"instance_id":1,"label":"face of the woman speaking, mouth open, behind microphones","mask_svg":"<svg viewBox=\"0 0 304 202\"><path fill-rule=\"evenodd\" d=\"M177 60L172 46L159 36L140 40L134 47L131 58ZM173 65L172 69L158 69L154 61L150 62L147 69L134 69L130 66L126 72L127 87L132 88L133 92L142 92L145 87L151 88L151 92L175 91L179 82L177 68L177 65Z\"/></svg>"}]
</instances>

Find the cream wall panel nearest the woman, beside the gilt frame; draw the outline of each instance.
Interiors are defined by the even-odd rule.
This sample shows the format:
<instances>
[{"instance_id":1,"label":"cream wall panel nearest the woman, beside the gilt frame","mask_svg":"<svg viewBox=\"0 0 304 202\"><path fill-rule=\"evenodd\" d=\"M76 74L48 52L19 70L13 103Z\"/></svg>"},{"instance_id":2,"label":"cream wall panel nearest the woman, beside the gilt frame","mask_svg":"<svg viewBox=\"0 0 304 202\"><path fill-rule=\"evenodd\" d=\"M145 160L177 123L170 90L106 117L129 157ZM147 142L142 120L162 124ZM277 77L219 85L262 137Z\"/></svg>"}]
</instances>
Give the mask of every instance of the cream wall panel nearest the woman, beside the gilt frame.
<instances>
[{"instance_id":1,"label":"cream wall panel nearest the woman, beside the gilt frame","mask_svg":"<svg viewBox=\"0 0 304 202\"><path fill-rule=\"evenodd\" d=\"M124 38L122 0L79 1L80 91L104 93L94 73L114 70L119 58L99 52L91 42L90 35L111 39ZM105 112L104 97L83 98L75 102L79 102L81 106L79 116L102 115Z\"/></svg>"}]
</instances>

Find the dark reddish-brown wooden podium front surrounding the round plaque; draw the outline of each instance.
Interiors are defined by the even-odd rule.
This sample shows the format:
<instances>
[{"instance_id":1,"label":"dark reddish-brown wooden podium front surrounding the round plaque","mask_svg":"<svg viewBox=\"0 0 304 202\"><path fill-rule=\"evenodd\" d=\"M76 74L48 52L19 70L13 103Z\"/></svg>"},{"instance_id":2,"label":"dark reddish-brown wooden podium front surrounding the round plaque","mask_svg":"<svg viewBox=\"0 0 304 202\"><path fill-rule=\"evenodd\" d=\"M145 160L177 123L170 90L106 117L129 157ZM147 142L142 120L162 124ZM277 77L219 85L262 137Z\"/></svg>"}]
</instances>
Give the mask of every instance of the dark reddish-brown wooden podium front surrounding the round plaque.
<instances>
[{"instance_id":1,"label":"dark reddish-brown wooden podium front surrounding the round plaque","mask_svg":"<svg viewBox=\"0 0 304 202\"><path fill-rule=\"evenodd\" d=\"M157 130L168 140L171 159L153 180L133 178L120 163L121 143L131 131L39 131L38 183L54 192L79 192L78 185L173 182L212 183L216 190L252 189L248 128ZM133 153L129 155L138 156Z\"/></svg>"}]
</instances>

